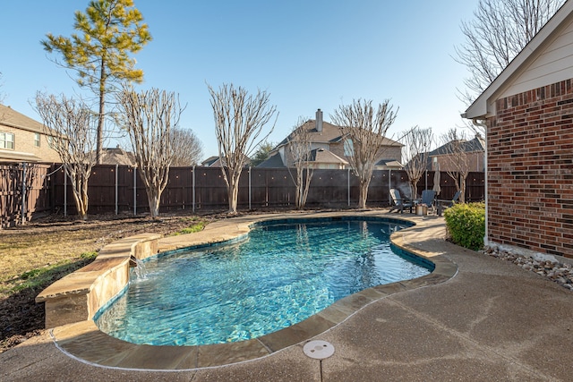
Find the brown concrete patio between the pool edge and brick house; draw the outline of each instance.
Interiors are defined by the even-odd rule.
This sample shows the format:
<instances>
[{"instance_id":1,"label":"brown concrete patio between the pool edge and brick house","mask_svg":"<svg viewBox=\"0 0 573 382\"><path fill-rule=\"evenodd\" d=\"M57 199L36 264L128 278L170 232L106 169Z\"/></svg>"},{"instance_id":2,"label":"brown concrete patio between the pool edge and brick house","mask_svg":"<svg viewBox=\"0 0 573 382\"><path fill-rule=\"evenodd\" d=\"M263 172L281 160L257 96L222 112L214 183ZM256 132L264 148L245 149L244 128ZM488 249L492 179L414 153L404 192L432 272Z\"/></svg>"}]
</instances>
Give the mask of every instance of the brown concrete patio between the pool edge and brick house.
<instances>
[{"instance_id":1,"label":"brown concrete patio between the pool edge and brick house","mask_svg":"<svg viewBox=\"0 0 573 382\"><path fill-rule=\"evenodd\" d=\"M382 211L365 214L398 217ZM448 259L458 272L437 284L398 285L394 293L384 293L315 335L312 339L334 346L328 359L304 355L305 339L227 366L150 370L137 364L114 369L62 352L48 332L0 354L0 380L571 380L573 293L513 264L445 242L442 218L399 217L417 225L395 233L394 242L430 259ZM169 245L177 246L171 241ZM65 329L54 333L64 342ZM87 350L93 346L89 341L82 345ZM107 352L111 357L118 349ZM153 354L170 357L158 349Z\"/></svg>"}]
</instances>

